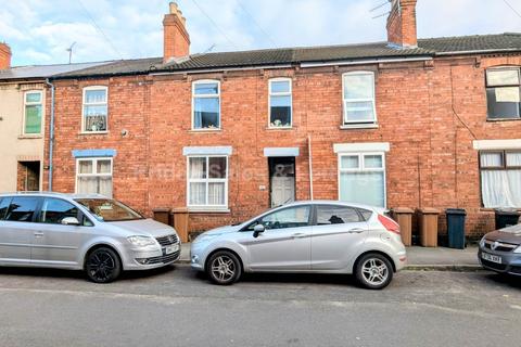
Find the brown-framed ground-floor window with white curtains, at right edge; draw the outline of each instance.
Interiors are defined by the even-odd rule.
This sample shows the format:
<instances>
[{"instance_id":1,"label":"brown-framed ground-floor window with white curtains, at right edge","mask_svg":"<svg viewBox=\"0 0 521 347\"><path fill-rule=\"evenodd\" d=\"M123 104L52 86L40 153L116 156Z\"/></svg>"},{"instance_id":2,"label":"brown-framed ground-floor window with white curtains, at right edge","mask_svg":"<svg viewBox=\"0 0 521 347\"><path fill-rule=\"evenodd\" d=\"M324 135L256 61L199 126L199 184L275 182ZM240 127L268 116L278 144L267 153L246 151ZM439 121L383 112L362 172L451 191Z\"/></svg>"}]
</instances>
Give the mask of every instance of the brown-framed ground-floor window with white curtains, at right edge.
<instances>
[{"instance_id":1,"label":"brown-framed ground-floor window with white curtains, at right edge","mask_svg":"<svg viewBox=\"0 0 521 347\"><path fill-rule=\"evenodd\" d=\"M521 151L480 153L484 207L521 207Z\"/></svg>"}]
</instances>

